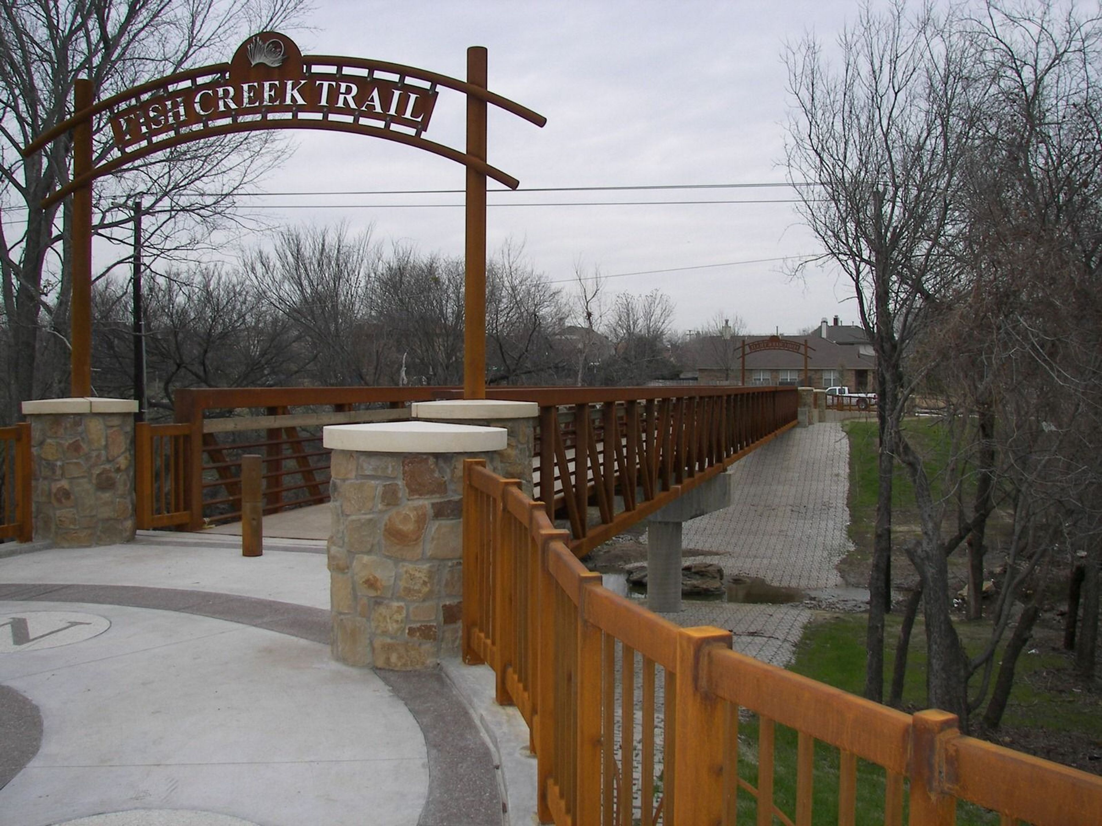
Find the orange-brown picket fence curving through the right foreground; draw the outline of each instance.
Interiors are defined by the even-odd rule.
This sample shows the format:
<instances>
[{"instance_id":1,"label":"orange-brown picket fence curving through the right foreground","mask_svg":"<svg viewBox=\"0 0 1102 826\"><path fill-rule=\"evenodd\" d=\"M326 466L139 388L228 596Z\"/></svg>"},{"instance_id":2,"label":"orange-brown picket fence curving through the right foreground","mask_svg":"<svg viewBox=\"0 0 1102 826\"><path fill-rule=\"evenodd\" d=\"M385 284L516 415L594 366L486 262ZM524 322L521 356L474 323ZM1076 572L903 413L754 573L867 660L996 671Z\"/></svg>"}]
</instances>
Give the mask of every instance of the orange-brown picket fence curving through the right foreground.
<instances>
[{"instance_id":1,"label":"orange-brown picket fence curving through the right foreground","mask_svg":"<svg viewBox=\"0 0 1102 826\"><path fill-rule=\"evenodd\" d=\"M464 479L463 656L528 722L541 823L1100 822L1102 778L679 628L602 587L518 481L474 459Z\"/></svg>"}]
</instances>

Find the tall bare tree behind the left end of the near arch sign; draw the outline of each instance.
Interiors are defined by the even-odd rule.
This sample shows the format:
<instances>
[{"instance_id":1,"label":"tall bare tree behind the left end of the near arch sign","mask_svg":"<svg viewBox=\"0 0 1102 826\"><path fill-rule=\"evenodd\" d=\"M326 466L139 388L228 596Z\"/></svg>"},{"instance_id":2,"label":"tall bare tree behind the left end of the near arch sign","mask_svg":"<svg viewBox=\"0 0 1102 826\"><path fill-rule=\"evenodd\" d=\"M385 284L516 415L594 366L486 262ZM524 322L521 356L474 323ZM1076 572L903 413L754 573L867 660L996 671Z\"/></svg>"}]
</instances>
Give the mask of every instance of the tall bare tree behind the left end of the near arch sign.
<instances>
[{"instance_id":1,"label":"tall bare tree behind the left end of the near arch sign","mask_svg":"<svg viewBox=\"0 0 1102 826\"><path fill-rule=\"evenodd\" d=\"M23 160L19 149L72 113L74 81L87 78L97 97L171 74L188 65L227 59L245 34L294 21L303 0L25 0L0 7L0 276L6 333L13 359L6 410L51 389L52 370L40 369L43 349L67 348L67 213L40 202L69 178L66 140ZM110 152L106 135L97 162ZM234 205L235 195L272 161L269 135L236 135L176 148L96 186L97 228L110 231L126 218L112 199L145 195L148 249L180 252L207 237ZM20 227L10 229L11 221ZM43 337L44 329L51 335ZM55 348L56 349L56 348Z\"/></svg>"}]
</instances>

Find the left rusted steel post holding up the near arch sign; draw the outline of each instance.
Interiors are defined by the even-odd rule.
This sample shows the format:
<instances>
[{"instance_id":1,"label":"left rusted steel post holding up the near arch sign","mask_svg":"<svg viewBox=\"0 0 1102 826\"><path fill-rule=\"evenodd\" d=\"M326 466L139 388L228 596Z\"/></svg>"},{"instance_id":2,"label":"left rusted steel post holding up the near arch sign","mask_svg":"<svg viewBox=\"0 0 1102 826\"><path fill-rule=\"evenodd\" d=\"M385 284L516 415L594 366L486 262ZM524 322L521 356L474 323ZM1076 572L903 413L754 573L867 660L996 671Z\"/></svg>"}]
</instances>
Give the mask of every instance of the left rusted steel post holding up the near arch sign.
<instances>
[{"instance_id":1,"label":"left rusted steel post holding up the near arch sign","mask_svg":"<svg viewBox=\"0 0 1102 826\"><path fill-rule=\"evenodd\" d=\"M73 85L73 110L94 102L91 80ZM73 130L73 178L91 172L91 119ZM91 395L91 182L73 193L72 303L69 313L71 395Z\"/></svg>"}]
</instances>

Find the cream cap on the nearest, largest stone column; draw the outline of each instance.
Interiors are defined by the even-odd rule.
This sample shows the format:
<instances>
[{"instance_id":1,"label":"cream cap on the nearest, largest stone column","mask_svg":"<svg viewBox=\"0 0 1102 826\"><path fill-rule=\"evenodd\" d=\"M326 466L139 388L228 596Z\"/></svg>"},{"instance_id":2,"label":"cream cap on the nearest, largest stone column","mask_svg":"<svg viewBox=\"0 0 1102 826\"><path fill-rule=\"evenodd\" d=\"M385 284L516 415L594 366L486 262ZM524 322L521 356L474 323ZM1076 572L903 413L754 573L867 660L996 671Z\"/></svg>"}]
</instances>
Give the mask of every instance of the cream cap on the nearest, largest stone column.
<instances>
[{"instance_id":1,"label":"cream cap on the nearest, largest stone column","mask_svg":"<svg viewBox=\"0 0 1102 826\"><path fill-rule=\"evenodd\" d=\"M504 427L442 422L333 424L322 430L322 444L361 453L482 453L504 450L508 433Z\"/></svg>"}]
</instances>

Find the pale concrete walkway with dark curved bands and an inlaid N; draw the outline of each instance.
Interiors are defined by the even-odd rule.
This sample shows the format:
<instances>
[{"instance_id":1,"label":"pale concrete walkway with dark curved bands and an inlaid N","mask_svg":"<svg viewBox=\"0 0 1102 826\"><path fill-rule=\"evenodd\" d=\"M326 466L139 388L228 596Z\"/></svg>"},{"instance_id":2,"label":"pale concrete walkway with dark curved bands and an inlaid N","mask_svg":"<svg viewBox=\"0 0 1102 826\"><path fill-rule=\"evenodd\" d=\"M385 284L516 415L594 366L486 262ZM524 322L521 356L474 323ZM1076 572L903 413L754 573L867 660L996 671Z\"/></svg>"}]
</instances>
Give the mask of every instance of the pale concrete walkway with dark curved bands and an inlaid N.
<instances>
[{"instance_id":1,"label":"pale concrete walkway with dark curved bands and an inlaid N","mask_svg":"<svg viewBox=\"0 0 1102 826\"><path fill-rule=\"evenodd\" d=\"M324 553L141 533L0 558L0 823L503 823L443 671L331 657Z\"/></svg>"}]
</instances>

